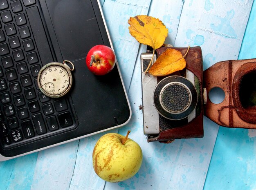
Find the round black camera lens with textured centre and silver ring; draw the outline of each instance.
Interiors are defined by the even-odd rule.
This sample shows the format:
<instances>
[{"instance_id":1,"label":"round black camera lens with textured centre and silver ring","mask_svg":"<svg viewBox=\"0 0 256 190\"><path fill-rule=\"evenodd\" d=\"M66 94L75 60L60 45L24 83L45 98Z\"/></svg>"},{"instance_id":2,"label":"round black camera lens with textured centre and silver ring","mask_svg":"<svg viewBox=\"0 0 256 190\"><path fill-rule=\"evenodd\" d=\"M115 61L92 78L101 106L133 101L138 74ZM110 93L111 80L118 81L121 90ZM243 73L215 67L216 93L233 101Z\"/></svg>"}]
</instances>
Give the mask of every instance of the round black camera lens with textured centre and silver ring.
<instances>
[{"instance_id":1,"label":"round black camera lens with textured centre and silver ring","mask_svg":"<svg viewBox=\"0 0 256 190\"><path fill-rule=\"evenodd\" d=\"M182 76L168 76L161 80L153 92L157 112L171 120L186 118L198 101L195 86Z\"/></svg>"}]
</instances>

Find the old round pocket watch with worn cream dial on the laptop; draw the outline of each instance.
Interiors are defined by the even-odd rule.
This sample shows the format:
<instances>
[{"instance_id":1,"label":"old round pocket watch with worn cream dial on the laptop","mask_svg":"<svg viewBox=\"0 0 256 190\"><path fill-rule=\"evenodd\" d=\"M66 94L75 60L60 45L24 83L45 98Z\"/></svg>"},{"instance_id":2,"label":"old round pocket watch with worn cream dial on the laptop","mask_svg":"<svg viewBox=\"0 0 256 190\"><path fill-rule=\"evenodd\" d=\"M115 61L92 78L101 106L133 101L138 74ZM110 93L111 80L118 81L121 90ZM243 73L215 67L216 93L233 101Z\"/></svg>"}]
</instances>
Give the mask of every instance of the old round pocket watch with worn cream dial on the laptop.
<instances>
[{"instance_id":1,"label":"old round pocket watch with worn cream dial on the laptop","mask_svg":"<svg viewBox=\"0 0 256 190\"><path fill-rule=\"evenodd\" d=\"M72 65L70 68L67 63ZM40 69L38 73L39 89L51 98L59 98L67 94L72 86L72 74L74 65L68 60L63 63L48 63Z\"/></svg>"}]
</instances>

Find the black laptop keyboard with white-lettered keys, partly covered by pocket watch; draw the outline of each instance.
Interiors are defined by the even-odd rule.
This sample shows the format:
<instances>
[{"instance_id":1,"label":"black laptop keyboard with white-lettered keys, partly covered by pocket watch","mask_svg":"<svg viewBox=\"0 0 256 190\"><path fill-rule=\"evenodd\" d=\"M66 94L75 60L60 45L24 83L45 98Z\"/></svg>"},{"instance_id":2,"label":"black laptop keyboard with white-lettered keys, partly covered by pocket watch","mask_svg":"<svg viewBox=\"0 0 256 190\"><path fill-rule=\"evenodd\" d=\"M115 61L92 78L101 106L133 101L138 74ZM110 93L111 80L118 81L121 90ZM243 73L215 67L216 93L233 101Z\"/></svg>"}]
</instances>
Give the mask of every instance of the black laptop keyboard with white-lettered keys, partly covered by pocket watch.
<instances>
[{"instance_id":1,"label":"black laptop keyboard with white-lettered keys, partly covered by pocket watch","mask_svg":"<svg viewBox=\"0 0 256 190\"><path fill-rule=\"evenodd\" d=\"M75 126L68 98L49 98L38 88L38 72L51 54L45 43L36 0L0 0L0 138L6 148Z\"/></svg>"}]
</instances>

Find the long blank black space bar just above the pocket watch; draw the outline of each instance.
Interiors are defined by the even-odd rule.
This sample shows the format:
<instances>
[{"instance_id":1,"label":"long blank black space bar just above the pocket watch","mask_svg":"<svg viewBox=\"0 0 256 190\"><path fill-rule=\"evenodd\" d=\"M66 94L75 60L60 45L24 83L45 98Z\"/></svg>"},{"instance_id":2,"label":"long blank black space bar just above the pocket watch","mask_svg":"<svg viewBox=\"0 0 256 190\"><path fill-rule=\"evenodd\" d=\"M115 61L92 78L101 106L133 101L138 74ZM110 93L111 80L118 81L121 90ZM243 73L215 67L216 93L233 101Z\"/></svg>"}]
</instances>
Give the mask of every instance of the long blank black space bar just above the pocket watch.
<instances>
[{"instance_id":1,"label":"long blank black space bar just above the pocket watch","mask_svg":"<svg viewBox=\"0 0 256 190\"><path fill-rule=\"evenodd\" d=\"M43 23L37 7L26 9L27 18L33 32L34 40L42 63L53 62L52 53L48 44L48 38L45 34Z\"/></svg>"}]
</instances>

